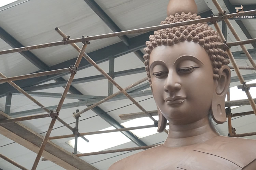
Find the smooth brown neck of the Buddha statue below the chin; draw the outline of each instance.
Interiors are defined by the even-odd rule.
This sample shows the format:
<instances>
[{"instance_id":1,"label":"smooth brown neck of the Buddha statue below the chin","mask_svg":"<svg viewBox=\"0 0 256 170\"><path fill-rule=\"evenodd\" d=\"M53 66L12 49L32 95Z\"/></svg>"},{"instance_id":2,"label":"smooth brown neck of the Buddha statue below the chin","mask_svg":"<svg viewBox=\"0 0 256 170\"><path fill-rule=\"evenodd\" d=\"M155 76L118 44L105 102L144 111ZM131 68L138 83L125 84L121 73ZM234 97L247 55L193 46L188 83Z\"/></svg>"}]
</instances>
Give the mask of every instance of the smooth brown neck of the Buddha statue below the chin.
<instances>
[{"instance_id":1,"label":"smooth brown neck of the Buddha statue below the chin","mask_svg":"<svg viewBox=\"0 0 256 170\"><path fill-rule=\"evenodd\" d=\"M169 124L170 130L166 141L163 143L165 147L184 147L204 142L218 134L210 125L208 117L186 125Z\"/></svg>"}]
</instances>

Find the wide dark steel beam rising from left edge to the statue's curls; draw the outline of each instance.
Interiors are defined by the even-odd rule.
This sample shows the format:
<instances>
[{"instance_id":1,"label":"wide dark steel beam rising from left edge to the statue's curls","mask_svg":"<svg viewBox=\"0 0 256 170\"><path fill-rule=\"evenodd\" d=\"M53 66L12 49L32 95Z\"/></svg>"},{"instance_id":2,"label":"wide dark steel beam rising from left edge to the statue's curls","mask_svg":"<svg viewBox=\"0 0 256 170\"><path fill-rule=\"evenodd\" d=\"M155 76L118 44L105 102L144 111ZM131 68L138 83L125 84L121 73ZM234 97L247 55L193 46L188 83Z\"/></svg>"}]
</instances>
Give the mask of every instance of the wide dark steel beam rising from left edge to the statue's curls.
<instances>
[{"instance_id":1,"label":"wide dark steel beam rising from left edge to the statue's curls","mask_svg":"<svg viewBox=\"0 0 256 170\"><path fill-rule=\"evenodd\" d=\"M119 42L113 45L110 45L108 47L101 48L99 50L87 53L97 64L106 62L109 60L109 56L119 57L125 54L128 54L130 52L139 50L141 48L144 48L145 41L148 39L148 37L153 34L153 32L147 32L141 35L138 35L136 37L133 37L130 39L131 45L127 47L123 42ZM49 70L56 70L60 68L67 68L70 66L70 63L75 63L76 58L72 58L68 61L56 64L54 66L49 67ZM91 67L91 64L87 60L82 60L81 64L79 66L79 70L85 69ZM41 72L41 71L39 71ZM64 75L67 75L67 73L64 74L57 74L57 75L50 75L50 76L44 76L44 77L38 77L38 78L32 78L29 80L18 80L14 81L15 84L17 84L19 87L30 87L33 85L38 85L41 83L45 83L50 80L54 80L59 77L63 77ZM0 85L0 97L3 97L6 95L6 92L15 90L12 86L10 86L8 83L4 83Z\"/></svg>"}]
</instances>

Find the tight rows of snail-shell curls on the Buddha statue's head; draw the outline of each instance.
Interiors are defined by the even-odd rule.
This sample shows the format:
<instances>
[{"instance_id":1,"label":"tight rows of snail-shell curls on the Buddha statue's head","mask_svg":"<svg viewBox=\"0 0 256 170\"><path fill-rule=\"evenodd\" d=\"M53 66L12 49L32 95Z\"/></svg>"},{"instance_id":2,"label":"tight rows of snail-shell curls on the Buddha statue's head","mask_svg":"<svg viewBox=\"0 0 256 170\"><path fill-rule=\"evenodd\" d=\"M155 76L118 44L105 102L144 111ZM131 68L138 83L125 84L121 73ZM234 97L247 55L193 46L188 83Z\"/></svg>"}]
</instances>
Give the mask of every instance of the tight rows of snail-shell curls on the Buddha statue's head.
<instances>
[{"instance_id":1,"label":"tight rows of snail-shell curls on the Buddha statue's head","mask_svg":"<svg viewBox=\"0 0 256 170\"><path fill-rule=\"evenodd\" d=\"M194 19L200 19L201 16L197 14L181 14L176 13L174 16L170 15L161 22L163 24L170 24L175 22L189 21ZM148 77L148 81L151 85L151 77L149 70L149 59L150 53L157 46L172 46L181 41L194 41L195 43L200 44L205 51L208 53L212 67L213 67L213 79L219 79L218 68L222 65L229 64L228 55L225 51L218 48L219 44L222 44L221 38L218 36L218 33L215 32L207 23L198 23L187 26L180 26L174 28L167 28L162 30L157 30L154 32L154 35L150 35L150 40L146 41L146 48L144 51L146 54L143 56L145 62L145 69Z\"/></svg>"}]
</instances>

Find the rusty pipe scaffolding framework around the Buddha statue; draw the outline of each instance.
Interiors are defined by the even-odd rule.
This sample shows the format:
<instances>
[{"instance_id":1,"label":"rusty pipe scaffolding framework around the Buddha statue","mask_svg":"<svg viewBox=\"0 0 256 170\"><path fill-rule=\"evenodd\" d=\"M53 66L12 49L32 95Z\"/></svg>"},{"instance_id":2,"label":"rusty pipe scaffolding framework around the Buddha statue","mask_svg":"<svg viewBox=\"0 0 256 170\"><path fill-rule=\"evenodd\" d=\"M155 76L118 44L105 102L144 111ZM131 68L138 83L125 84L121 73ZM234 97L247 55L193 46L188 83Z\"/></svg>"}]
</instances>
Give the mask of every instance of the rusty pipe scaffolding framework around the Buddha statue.
<instances>
[{"instance_id":1,"label":"rusty pipe scaffolding framework around the Buddha statue","mask_svg":"<svg viewBox=\"0 0 256 170\"><path fill-rule=\"evenodd\" d=\"M32 167L32 170L35 170L38 166L40 157L42 156L42 153L44 151L45 145L47 143L48 140L53 140L53 139L62 139L62 138L69 138L69 137L75 137L75 147L74 147L74 154L76 156L88 156L88 155L96 155L96 154L105 154L105 153L114 153L114 152L123 152L123 151L132 151L132 150L139 150L139 149L148 149L157 145L152 145L152 146L143 146L143 147L135 147L135 148L125 148L125 149L118 149L118 150L110 150L110 151L100 151L100 152L94 152L94 153L86 153L86 154L77 154L77 138L78 137L82 137L84 140L86 140L88 142L88 139L86 139L84 136L86 135L92 135L92 134L100 134L100 133L111 133L111 132L121 132L121 131L130 131L130 130L136 130L136 129L144 129L144 128L152 128L152 127L157 127L158 125L158 121L155 120L153 118L153 116L157 115L157 111L146 111L136 100L133 99L133 97L131 97L127 90L141 84L142 82L146 81L147 78L144 78L142 80L139 80L133 84L131 84L130 86L126 87L126 88L122 88L121 86L119 86L114 80L113 80L113 76L109 75L108 73L106 73L104 70L102 70L86 53L86 47L88 44L90 44L90 40L96 40L96 39L102 39L102 38L110 38L110 37L116 37L116 36L123 36L123 35L128 35L128 34L136 34L136 33L144 33L144 32L149 32L149 31L154 31L154 30L159 30L159 29L166 29L166 28L173 28L173 27L180 27L180 26L185 26L188 24L196 24L196 23L202 23L202 22L212 22L219 34L219 36L221 37L221 40L223 42L222 45L220 45L220 48L225 48L229 59L231 61L232 66L230 66L231 69L234 69L238 75L238 78L240 80L241 85L238 86L238 88L241 88L247 95L248 100L240 100L240 101L230 101L230 94L228 92L227 96L228 96L228 101L226 102L225 106L228 107L226 113L227 113L227 118L228 118L228 131L229 134L228 136L232 136L232 137L243 137L243 136L251 136L251 135L256 135L256 132L253 133L245 133L245 134L238 134L238 135L233 135L232 134L232 125L231 125L231 118L235 117L235 116L243 116L243 115L251 115L251 114L255 114L256 115L256 105L255 105L255 101L256 99L253 99L249 88L250 87L255 87L256 84L246 84L240 69L254 69L256 70L256 64L253 61L252 56L250 55L250 53L248 52L248 50L245 48L245 44L251 44L251 43L256 43L256 38L254 39L249 39L249 40L241 40L238 36L238 34L236 33L236 31L234 30L234 28L232 27L230 21L228 20L229 18L235 17L238 14L237 13L233 13L233 14L225 14L225 12L222 10L221 6L218 4L217 0L212 0L214 5L216 6L219 15L218 16L211 16L208 18L201 18L201 19L195 19L195 20L190 20L190 21L183 21L183 22L176 22L176 23L171 23L171 24L165 24L165 25L160 25L160 26L154 26L154 27L147 27L147 28L141 28L141 29L135 29L135 30L128 30L128 31L120 31L120 32L114 32L114 33L110 33L110 34L103 34L103 35L96 35L96 36L89 36L89 37L85 37L82 36L82 38L77 38L77 39L70 39L70 36L67 36L65 33L63 33L59 28L56 28L55 31L63 38L62 41L57 41L57 42L53 42L53 43L47 43L47 44L40 44L40 45L34 45L34 46L28 46L28 47L22 47L22 48L15 48L15 49L10 49L10 50L3 50L0 51L0 55L2 54L9 54L9 53L15 53L15 52L22 52L22 51L28 51L28 50L33 50L33 49L41 49L41 48L47 48L47 47L53 47L53 46L60 46L60 45L67 45L70 44L74 49L76 49L79 52L79 55L77 57L76 62L74 63L74 66L70 66L69 68L65 68L65 69L58 69L58 70L53 70L53 71L45 71L45 72L40 72L40 73L34 73L34 74L27 74L27 75L21 75L21 76L16 76L16 77L10 77L7 78L5 77L2 73L0 73L0 77L2 79L0 79L0 83L3 82L8 82L11 86L13 86L15 89L17 89L20 93L22 93L23 95L25 95L28 99L30 99L32 102L34 102L35 104L37 104L39 107L41 107L42 109L44 109L44 111L46 112L46 114L40 114L40 115L32 115L32 116L25 116L25 117L18 117L18 118L9 118L9 119L5 119L5 120L0 120L0 124L4 124L4 123L10 123L10 122L18 122L18 121L24 121L24 120L32 120L32 119L39 119L39 118L46 118L46 117L51 117L51 123L49 124L48 130L46 135L44 136L44 139L41 143L41 147L40 150L37 154L37 157L34 160L34 164ZM246 11L243 13L240 13L239 16L249 16L249 15L254 15L256 14L256 10L252 10L252 11ZM233 43L227 43L221 29L219 28L217 21L222 21L224 20L225 23L227 24L227 26L229 27L229 29L231 30L232 34L234 35L234 37L236 38L236 42ZM80 49L75 43L83 43L83 47ZM248 60L250 61L250 63L252 64L252 67L243 67L243 66L238 66L231 51L230 51L230 47L232 46L238 46L240 45L244 54L247 56ZM72 81L74 79L75 74L77 73L77 69L79 68L80 62L82 60L82 58L85 58L91 65L93 65L106 79L108 79L108 81L113 84L115 87L117 87L117 89L119 90L118 92L114 93L113 92L109 93L111 95L109 95L106 98L103 98L101 100L98 100L97 102L95 102L94 104L88 106L87 108L83 109L82 111L77 110L76 113L74 113L72 116L76 119L76 123L75 123L75 128L72 128L68 123L66 123L65 121L61 120L58 116L61 110L61 107L63 105L63 102L65 100L65 98L67 97L69 88L72 84ZM45 76L45 75L52 75L52 74L58 74L58 73L67 73L70 72L70 77L66 83L66 87L63 91L62 96L60 97L60 101L55 109L55 111L51 111L48 108L46 108L44 105L42 105L39 101L35 100L30 94L28 94L28 92L26 92L25 90L23 90L22 88L20 88L18 85L16 85L15 83L13 83L13 81L15 80L22 80L22 79L28 79L28 78L34 78L34 77L40 77L40 76ZM149 117L154 124L152 125L146 125L146 126L138 126L138 127L131 127L131 128L121 128L121 129L116 129L116 130L108 130L108 131L98 131L98 132L87 132L87 133L79 133L78 132L78 122L79 122L79 117L81 114L89 111L90 109L93 109L94 107L102 104L103 102L106 102L120 94L125 95L134 105L136 105L142 112L140 113L132 113L132 114L126 114L126 115L119 115L121 119L126 120L126 119L133 119L133 118L138 118L138 117ZM252 112L243 112L243 113L237 113L237 114L232 114L230 111L230 106L234 106L236 104L239 105L246 105L246 104L250 104L252 106L253 111ZM73 134L71 135L62 135L62 136L53 136L50 137L51 131L53 129L53 126L56 122L56 120L58 120L60 123L62 123L63 125L65 125L68 129L70 129ZM168 133L167 130L165 130L166 133ZM13 162L11 159L3 156L0 154L0 157L7 160L8 162L12 163L13 165L17 166L20 169L26 169L20 165L18 165L17 163ZM47 160L47 159L42 159L42 160Z\"/></svg>"}]
</instances>

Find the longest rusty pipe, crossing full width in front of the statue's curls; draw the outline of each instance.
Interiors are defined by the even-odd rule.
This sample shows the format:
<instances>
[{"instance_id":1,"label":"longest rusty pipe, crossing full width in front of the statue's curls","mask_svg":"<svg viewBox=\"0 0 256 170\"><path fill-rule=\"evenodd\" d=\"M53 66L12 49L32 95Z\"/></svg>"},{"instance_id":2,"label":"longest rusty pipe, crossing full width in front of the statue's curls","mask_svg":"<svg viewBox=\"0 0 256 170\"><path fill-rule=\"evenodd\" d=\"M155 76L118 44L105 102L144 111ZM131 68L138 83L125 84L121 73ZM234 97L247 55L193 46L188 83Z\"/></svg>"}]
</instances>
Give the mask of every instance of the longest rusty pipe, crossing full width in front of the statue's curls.
<instances>
[{"instance_id":1,"label":"longest rusty pipe, crossing full width in front of the statue's curls","mask_svg":"<svg viewBox=\"0 0 256 170\"><path fill-rule=\"evenodd\" d=\"M248 15L254 15L254 14L256 14L256 10L246 11L244 13L239 14L239 16L245 16L245 15L248 16ZM165 25L160 25L160 26L153 26L153 27L146 27L146 28L140 28L140 29L135 29L135 30L128 30L128 31L121 31L121 32L115 32L115 33L109 33L109 34L89 36L89 37L86 37L84 40L90 41L90 40L96 40L96 39L123 36L123 35L128 35L128 34L144 33L144 32L149 32L149 31L160 30L160 29L186 26L189 24L197 24L197 23L210 22L210 21L219 21L219 20L223 20L223 19L227 19L227 18L232 18L235 16L237 16L237 13L227 14L227 15L224 15L223 17L222 16L214 16L214 17L201 18L201 19L195 19L195 20L190 20L190 21L165 24ZM72 40L57 41L57 42L53 42L53 43L21 47L21 48L15 48L15 49L10 49L10 50L3 50L3 51L0 51L0 55L15 53L15 52L22 52L22 51L29 51L29 50L40 49L40 48L54 47L54 46L72 44L72 43L79 43L82 41L83 41L82 38L76 38L76 39L72 39Z\"/></svg>"}]
</instances>

